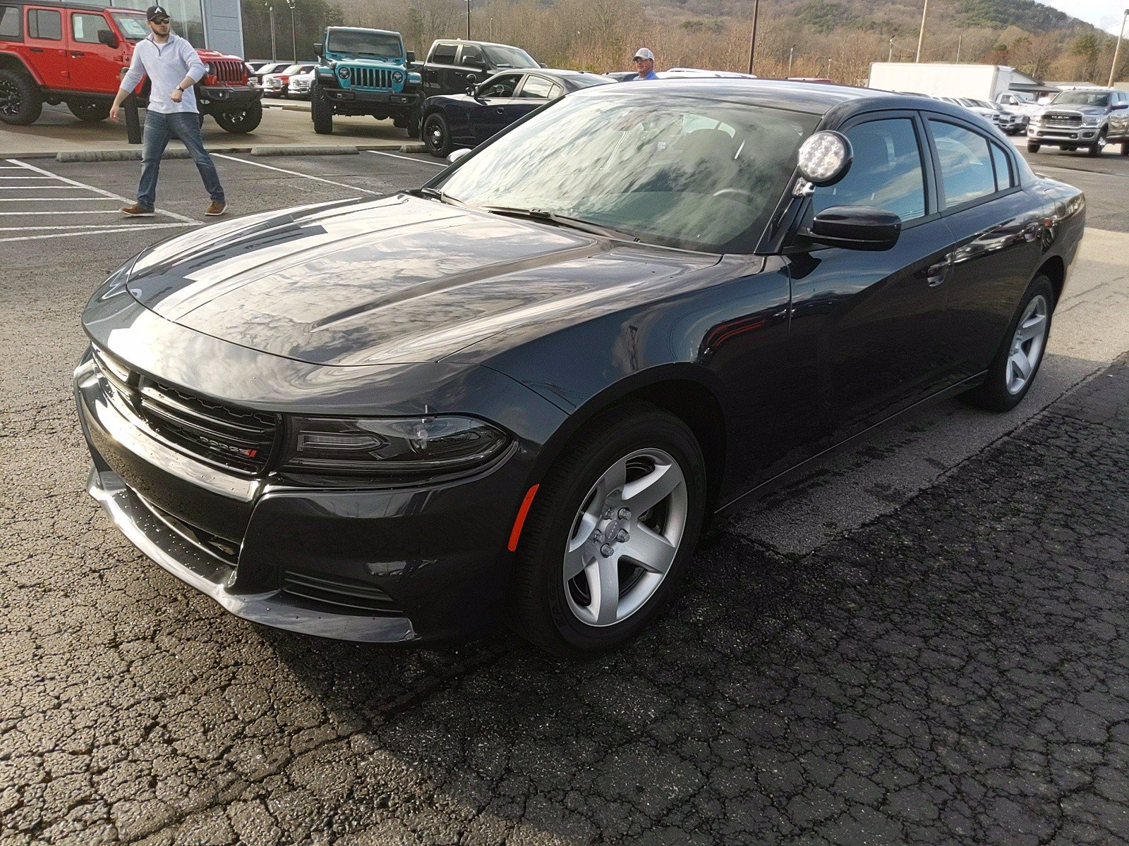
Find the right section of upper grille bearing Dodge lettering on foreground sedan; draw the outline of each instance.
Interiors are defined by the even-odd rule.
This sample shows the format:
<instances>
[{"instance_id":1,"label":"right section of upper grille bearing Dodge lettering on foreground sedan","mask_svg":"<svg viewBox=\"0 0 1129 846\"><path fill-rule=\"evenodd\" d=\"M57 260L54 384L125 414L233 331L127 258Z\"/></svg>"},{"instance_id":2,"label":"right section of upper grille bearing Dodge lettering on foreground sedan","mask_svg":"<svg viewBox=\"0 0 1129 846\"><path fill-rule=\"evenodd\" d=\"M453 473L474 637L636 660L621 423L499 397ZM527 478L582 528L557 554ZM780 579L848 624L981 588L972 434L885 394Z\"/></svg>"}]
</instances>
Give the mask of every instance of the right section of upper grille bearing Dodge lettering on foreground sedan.
<instances>
[{"instance_id":1,"label":"right section of upper grille bearing Dodge lettering on foreground sedan","mask_svg":"<svg viewBox=\"0 0 1129 846\"><path fill-rule=\"evenodd\" d=\"M194 456L243 473L260 473L270 459L273 414L204 399L141 377L138 411L154 432Z\"/></svg>"}]
</instances>

